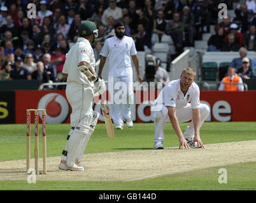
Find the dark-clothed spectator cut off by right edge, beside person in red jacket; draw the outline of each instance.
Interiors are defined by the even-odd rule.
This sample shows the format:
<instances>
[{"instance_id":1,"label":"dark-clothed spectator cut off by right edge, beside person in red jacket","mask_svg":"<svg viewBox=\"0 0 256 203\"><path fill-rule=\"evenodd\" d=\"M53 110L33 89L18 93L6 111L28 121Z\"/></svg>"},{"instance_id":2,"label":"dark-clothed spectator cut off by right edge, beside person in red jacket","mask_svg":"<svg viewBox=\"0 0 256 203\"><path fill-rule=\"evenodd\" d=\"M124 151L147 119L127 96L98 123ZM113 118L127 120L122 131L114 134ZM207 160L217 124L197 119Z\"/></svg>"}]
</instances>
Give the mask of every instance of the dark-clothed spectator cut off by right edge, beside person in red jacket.
<instances>
[{"instance_id":1,"label":"dark-clothed spectator cut off by right edge, beside person in red jacket","mask_svg":"<svg viewBox=\"0 0 256 203\"><path fill-rule=\"evenodd\" d=\"M256 27L251 25L249 32L243 37L243 47L248 51L256 51Z\"/></svg>"}]
</instances>

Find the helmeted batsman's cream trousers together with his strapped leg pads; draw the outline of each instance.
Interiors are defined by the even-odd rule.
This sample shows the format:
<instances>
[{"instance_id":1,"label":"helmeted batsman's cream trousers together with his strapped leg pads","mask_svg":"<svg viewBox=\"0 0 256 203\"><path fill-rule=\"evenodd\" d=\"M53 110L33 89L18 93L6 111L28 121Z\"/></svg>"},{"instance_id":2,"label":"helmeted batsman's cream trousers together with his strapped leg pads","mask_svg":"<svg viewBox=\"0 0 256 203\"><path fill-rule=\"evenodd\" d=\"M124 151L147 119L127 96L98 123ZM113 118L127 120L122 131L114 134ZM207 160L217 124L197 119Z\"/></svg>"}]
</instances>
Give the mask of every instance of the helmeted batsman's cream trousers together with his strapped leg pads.
<instances>
[{"instance_id":1,"label":"helmeted batsman's cream trousers together with his strapped leg pads","mask_svg":"<svg viewBox=\"0 0 256 203\"><path fill-rule=\"evenodd\" d=\"M62 160L67 162L68 166L72 166L83 154L92 134L90 122L92 121L94 91L89 86L68 82L66 96L72 107L70 124L75 129L69 131L70 137L66 145L68 156L62 156Z\"/></svg>"}]
</instances>

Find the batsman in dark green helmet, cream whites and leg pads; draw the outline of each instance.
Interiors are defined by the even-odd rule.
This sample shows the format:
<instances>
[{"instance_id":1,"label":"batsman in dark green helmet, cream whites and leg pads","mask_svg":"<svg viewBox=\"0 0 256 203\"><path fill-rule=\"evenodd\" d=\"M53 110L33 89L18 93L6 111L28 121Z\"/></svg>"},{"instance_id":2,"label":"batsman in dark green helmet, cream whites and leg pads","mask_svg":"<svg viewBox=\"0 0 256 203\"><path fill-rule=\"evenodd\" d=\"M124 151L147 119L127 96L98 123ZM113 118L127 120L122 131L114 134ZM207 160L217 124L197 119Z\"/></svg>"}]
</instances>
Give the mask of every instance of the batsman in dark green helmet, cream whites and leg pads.
<instances>
[{"instance_id":1,"label":"batsman in dark green helmet, cream whites and leg pads","mask_svg":"<svg viewBox=\"0 0 256 203\"><path fill-rule=\"evenodd\" d=\"M66 97L72 107L66 149L63 150L59 169L83 171L81 163L83 152L99 118L99 113L92 110L95 94L106 90L104 81L95 72L95 57L91 44L98 36L96 24L82 21L78 28L78 40L69 49L62 74L67 78Z\"/></svg>"}]
</instances>

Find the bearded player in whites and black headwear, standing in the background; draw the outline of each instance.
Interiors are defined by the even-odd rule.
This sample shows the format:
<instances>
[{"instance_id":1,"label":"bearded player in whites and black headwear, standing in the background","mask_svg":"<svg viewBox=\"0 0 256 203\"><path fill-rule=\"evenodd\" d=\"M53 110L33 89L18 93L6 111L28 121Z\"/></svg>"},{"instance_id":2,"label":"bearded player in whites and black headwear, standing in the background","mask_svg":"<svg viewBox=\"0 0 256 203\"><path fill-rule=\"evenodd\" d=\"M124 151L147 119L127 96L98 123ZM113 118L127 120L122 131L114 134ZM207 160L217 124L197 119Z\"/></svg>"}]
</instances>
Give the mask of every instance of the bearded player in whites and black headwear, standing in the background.
<instances>
[{"instance_id":1,"label":"bearded player in whites and black headwear, standing in the background","mask_svg":"<svg viewBox=\"0 0 256 203\"><path fill-rule=\"evenodd\" d=\"M127 127L131 128L133 123L131 119L131 101L133 99L133 79L132 79L132 64L131 58L136 68L139 83L142 82L142 78L139 72L139 59L132 37L124 36L125 27L124 23L118 22L115 24L115 36L106 39L103 48L101 49L101 62L99 63L98 75L101 77L106 58L108 56L108 77L113 77L113 85L117 82L124 82L126 85L126 94L123 98L127 98L127 104L114 104L111 109L111 117L115 123L115 129L123 129L124 120ZM114 95L120 89L114 89Z\"/></svg>"}]
</instances>

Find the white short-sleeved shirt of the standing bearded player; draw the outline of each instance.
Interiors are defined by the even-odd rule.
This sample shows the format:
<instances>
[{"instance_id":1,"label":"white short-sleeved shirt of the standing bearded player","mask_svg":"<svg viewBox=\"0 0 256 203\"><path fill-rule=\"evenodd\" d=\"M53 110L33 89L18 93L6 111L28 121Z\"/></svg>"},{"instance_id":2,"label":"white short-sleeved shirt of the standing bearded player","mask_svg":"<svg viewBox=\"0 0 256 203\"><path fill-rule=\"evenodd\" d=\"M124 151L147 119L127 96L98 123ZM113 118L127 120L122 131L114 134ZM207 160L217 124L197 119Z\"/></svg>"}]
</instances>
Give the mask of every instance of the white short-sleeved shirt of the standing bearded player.
<instances>
[{"instance_id":1,"label":"white short-sleeved shirt of the standing bearded player","mask_svg":"<svg viewBox=\"0 0 256 203\"><path fill-rule=\"evenodd\" d=\"M126 76L132 75L131 56L136 55L132 37L124 36L121 40L117 36L106 39L101 56L108 56L108 76Z\"/></svg>"}]
</instances>

